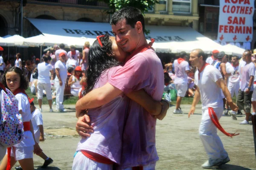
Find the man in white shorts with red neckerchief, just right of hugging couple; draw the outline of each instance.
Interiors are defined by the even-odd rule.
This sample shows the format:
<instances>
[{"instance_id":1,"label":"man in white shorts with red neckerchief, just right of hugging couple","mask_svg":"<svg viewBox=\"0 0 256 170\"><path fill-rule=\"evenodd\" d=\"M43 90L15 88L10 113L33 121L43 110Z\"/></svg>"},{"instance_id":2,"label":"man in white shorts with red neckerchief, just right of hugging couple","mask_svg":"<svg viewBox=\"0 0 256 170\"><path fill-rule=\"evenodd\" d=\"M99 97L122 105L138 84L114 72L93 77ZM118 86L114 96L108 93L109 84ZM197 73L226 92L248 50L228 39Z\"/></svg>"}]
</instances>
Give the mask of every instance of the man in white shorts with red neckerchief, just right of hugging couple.
<instances>
[{"instance_id":1,"label":"man in white shorts with red neckerchief, just right of hugging couple","mask_svg":"<svg viewBox=\"0 0 256 170\"><path fill-rule=\"evenodd\" d=\"M189 63L186 61L187 54L182 51L180 53L180 58L174 60L174 68L175 68L175 79L174 84L177 90L177 102L176 109L173 111L175 114L183 113L180 108L180 103L182 97L186 95L186 91L188 89L188 73L189 73Z\"/></svg>"}]
</instances>

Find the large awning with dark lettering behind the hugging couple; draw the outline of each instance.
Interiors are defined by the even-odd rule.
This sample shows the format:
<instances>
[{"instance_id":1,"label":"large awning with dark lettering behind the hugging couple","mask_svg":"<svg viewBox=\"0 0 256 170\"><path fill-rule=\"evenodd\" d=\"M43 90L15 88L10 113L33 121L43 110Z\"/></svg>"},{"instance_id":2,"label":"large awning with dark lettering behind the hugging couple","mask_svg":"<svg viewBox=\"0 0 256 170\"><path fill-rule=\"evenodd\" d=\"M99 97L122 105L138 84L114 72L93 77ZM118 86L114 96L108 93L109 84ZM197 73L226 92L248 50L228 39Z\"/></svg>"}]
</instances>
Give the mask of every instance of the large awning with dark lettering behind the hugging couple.
<instances>
[{"instance_id":1,"label":"large awning with dark lettering behind the hugging couple","mask_svg":"<svg viewBox=\"0 0 256 170\"><path fill-rule=\"evenodd\" d=\"M83 40L80 39L81 45L83 45L85 41L89 41L90 44L92 44L98 35L106 33L113 35L109 23L43 20L34 18L28 18L28 20L46 37L51 37L53 41L55 40L53 43L57 43L57 41L63 43L68 42L72 45L73 42L77 41L76 37L83 37ZM210 40L190 27L145 26L145 28L150 30L150 34L146 36L147 40L150 40L150 38L155 39L153 48L157 52L190 52L195 48L201 48L209 53L212 50L221 49L222 47L217 42Z\"/></svg>"}]
</instances>

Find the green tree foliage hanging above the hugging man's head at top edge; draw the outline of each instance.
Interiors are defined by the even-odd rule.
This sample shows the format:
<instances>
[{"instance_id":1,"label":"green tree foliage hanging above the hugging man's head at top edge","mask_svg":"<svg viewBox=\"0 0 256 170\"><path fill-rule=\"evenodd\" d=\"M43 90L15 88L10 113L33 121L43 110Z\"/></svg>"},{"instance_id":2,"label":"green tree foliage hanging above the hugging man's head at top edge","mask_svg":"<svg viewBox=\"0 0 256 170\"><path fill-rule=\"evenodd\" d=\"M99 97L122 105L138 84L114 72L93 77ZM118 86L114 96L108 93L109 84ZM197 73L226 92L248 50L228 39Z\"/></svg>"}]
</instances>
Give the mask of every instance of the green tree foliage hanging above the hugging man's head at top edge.
<instances>
[{"instance_id":1,"label":"green tree foliage hanging above the hugging man's head at top edge","mask_svg":"<svg viewBox=\"0 0 256 170\"><path fill-rule=\"evenodd\" d=\"M125 7L133 6L144 14L149 8L153 7L155 3L158 3L158 0L101 0L108 4L109 10L108 14L113 14L115 11Z\"/></svg>"}]
</instances>

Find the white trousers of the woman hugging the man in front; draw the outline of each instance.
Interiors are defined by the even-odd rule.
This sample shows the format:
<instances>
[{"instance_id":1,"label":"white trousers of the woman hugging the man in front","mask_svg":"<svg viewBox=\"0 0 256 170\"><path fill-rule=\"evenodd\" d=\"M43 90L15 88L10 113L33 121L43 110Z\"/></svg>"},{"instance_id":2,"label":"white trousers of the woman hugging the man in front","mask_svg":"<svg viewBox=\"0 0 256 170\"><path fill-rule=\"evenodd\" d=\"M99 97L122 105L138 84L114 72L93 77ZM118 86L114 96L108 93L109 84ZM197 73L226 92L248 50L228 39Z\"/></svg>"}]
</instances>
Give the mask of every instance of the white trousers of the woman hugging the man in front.
<instances>
[{"instance_id":1,"label":"white trousers of the woman hugging the man in front","mask_svg":"<svg viewBox=\"0 0 256 170\"><path fill-rule=\"evenodd\" d=\"M93 161L78 151L73 161L72 170L113 170L113 165Z\"/></svg>"}]
</instances>

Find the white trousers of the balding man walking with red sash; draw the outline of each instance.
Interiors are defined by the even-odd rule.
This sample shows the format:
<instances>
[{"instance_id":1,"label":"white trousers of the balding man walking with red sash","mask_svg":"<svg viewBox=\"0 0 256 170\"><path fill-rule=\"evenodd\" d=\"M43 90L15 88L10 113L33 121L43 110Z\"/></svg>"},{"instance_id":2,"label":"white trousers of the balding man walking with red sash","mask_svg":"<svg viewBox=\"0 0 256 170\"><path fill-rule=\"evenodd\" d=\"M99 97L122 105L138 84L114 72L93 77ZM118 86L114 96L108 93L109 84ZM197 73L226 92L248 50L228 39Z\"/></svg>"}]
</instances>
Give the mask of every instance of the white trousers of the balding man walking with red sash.
<instances>
[{"instance_id":1,"label":"white trousers of the balding man walking with red sash","mask_svg":"<svg viewBox=\"0 0 256 170\"><path fill-rule=\"evenodd\" d=\"M220 119L223 113L223 107L214 108L213 110L218 119ZM228 156L220 137L217 135L217 127L212 123L209 116L208 108L202 109L199 136L209 159L225 159Z\"/></svg>"}]
</instances>

